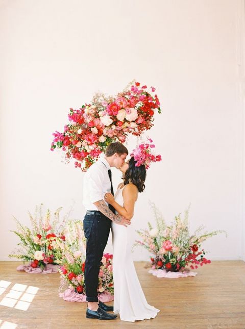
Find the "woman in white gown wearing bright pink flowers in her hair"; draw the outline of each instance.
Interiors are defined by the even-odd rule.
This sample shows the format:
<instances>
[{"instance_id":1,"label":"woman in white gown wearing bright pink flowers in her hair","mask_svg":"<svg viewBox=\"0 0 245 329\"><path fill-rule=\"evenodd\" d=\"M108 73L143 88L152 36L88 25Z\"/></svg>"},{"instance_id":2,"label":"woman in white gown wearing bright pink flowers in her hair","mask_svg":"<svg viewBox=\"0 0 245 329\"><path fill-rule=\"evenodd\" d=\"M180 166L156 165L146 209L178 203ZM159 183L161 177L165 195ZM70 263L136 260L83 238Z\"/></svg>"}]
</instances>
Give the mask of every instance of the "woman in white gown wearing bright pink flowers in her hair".
<instances>
[{"instance_id":1,"label":"woman in white gown wearing bright pink flowers in her hair","mask_svg":"<svg viewBox=\"0 0 245 329\"><path fill-rule=\"evenodd\" d=\"M133 152L137 154L137 149ZM148 153L148 155L150 154ZM113 196L111 193L105 194L107 203L111 204L117 213L127 219L133 218L134 205L138 198L138 193L142 192L145 187L145 167L148 168L149 164L147 155L145 161L136 161L132 157L120 168L124 182L118 185L115 195ZM113 242L114 313L119 313L121 320L131 322L155 318L160 311L146 301L131 255L131 248L134 243L133 225L125 227L112 222L111 229Z\"/></svg>"}]
</instances>

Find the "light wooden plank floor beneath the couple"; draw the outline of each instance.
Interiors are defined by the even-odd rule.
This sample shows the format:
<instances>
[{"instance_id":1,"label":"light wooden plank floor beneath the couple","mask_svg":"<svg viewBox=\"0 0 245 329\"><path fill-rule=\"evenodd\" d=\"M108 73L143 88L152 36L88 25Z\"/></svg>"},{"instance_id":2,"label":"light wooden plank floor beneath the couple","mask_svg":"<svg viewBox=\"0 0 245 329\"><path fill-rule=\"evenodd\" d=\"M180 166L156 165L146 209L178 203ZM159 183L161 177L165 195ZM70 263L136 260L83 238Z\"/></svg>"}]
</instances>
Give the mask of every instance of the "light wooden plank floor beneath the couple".
<instances>
[{"instance_id":1,"label":"light wooden plank floor beneath the couple","mask_svg":"<svg viewBox=\"0 0 245 329\"><path fill-rule=\"evenodd\" d=\"M143 267L144 262L136 262L146 299L161 312L155 319L134 323L120 321L119 318L111 321L86 319L86 303L71 303L58 296L59 274L17 272L19 264L0 262L0 283L1 280L11 282L6 290L0 288L0 328L3 325L3 328L57 329L94 329L98 326L125 329L245 329L245 263L242 261L212 262L198 269L196 277L180 279L158 279ZM18 304L20 309L16 309L15 301L14 307L1 305L14 284L39 288L26 311L20 310L27 305L25 303ZM11 294L8 296L11 297ZM7 326L6 321L16 326Z\"/></svg>"}]
</instances>

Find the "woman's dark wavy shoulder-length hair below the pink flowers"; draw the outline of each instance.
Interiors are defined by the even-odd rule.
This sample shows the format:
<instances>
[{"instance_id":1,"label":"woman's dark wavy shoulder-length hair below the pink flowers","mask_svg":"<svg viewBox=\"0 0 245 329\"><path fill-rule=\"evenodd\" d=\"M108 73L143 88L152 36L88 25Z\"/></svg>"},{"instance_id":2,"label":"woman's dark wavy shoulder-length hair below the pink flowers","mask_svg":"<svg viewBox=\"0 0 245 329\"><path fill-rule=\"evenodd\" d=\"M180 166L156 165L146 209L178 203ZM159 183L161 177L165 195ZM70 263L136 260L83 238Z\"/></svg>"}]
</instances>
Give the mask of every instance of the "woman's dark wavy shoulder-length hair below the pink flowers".
<instances>
[{"instance_id":1,"label":"woman's dark wavy shoulder-length hair below the pink flowers","mask_svg":"<svg viewBox=\"0 0 245 329\"><path fill-rule=\"evenodd\" d=\"M134 158L129 160L129 168L124 175L124 185L131 182L137 186L139 192L143 192L145 188L144 181L146 178L146 170L144 165L136 167L136 162Z\"/></svg>"}]
</instances>

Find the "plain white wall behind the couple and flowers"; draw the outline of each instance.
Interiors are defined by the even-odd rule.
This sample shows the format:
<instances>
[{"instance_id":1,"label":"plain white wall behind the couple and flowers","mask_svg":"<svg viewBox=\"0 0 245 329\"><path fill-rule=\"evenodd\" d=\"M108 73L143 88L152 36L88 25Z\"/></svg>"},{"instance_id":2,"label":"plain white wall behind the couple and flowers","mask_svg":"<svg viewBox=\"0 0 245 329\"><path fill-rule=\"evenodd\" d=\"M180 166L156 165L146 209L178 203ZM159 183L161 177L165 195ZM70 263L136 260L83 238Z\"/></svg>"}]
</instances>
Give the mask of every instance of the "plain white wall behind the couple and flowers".
<instances>
[{"instance_id":1,"label":"plain white wall behind the couple and flowers","mask_svg":"<svg viewBox=\"0 0 245 329\"><path fill-rule=\"evenodd\" d=\"M149 199L167 221L191 202L191 229L204 224L228 233L227 239L220 235L205 243L208 257L240 259L242 252L244 257L243 5L242 0L0 3L0 260L8 260L17 243L9 232L15 227L12 214L28 224L27 210L36 204L67 211L75 201L73 217L83 218L84 174L51 153L52 132L62 130L68 109L89 102L94 91L115 94L134 78L157 88L162 114L150 135L163 158L148 172L135 226L153 221ZM113 174L116 184L119 173ZM135 250L135 260L148 257Z\"/></svg>"}]
</instances>

